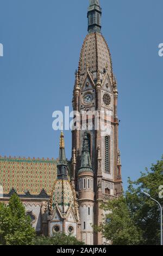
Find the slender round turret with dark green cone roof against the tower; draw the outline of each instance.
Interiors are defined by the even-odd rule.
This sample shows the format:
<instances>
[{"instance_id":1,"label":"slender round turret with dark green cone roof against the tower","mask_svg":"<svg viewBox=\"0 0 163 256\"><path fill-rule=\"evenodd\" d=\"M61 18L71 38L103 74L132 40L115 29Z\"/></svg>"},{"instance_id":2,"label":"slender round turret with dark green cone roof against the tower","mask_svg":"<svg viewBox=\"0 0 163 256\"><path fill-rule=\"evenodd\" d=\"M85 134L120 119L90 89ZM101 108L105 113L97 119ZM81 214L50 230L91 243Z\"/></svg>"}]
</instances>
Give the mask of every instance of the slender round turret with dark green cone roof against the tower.
<instances>
[{"instance_id":1,"label":"slender round turret with dark green cone roof against the tower","mask_svg":"<svg viewBox=\"0 0 163 256\"><path fill-rule=\"evenodd\" d=\"M91 165L89 140L87 138L87 133L85 132L81 164L78 171L78 190L82 241L84 241L86 245L93 245L93 176L94 174Z\"/></svg>"}]
</instances>

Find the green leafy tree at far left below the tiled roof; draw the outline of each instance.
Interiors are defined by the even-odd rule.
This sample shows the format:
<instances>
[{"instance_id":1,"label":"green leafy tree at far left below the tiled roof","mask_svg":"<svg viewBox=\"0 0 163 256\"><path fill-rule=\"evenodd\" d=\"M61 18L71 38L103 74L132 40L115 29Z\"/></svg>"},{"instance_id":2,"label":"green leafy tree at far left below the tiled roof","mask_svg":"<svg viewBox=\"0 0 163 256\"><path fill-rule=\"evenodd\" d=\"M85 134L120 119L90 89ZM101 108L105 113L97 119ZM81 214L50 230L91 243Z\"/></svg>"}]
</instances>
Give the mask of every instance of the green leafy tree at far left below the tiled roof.
<instances>
[{"instance_id":1,"label":"green leafy tree at far left below the tiled roof","mask_svg":"<svg viewBox=\"0 0 163 256\"><path fill-rule=\"evenodd\" d=\"M3 245L32 245L35 230L21 200L13 194L9 204L0 204L0 241Z\"/></svg>"}]
</instances>

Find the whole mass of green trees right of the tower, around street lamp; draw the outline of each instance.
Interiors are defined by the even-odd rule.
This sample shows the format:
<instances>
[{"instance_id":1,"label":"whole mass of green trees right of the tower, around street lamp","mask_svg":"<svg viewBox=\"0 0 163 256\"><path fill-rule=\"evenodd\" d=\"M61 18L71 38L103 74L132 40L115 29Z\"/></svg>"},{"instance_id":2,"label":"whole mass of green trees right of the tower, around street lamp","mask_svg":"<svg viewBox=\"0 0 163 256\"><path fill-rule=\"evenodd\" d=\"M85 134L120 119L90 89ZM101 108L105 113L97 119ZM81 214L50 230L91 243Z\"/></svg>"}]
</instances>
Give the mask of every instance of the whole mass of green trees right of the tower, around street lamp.
<instances>
[{"instance_id":1,"label":"whole mass of green trees right of the tower, around street lamp","mask_svg":"<svg viewBox=\"0 0 163 256\"><path fill-rule=\"evenodd\" d=\"M113 245L160 245L160 209L142 191L151 194L163 206L159 187L163 185L163 158L146 169L122 197L102 205L104 223L98 227ZM107 213L109 212L109 213Z\"/></svg>"}]
</instances>

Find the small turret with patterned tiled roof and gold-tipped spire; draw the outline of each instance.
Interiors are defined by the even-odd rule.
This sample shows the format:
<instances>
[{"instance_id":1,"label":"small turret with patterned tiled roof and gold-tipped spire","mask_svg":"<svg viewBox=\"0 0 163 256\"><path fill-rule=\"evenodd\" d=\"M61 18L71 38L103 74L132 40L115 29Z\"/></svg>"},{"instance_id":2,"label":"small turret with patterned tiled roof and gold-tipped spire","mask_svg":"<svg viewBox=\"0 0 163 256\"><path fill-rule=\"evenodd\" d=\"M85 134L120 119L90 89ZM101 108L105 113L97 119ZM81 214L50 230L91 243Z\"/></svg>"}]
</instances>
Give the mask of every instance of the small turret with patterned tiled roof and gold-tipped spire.
<instances>
[{"instance_id":1,"label":"small turret with patterned tiled roof and gold-tipped spire","mask_svg":"<svg viewBox=\"0 0 163 256\"><path fill-rule=\"evenodd\" d=\"M80 240L80 219L76 192L68 178L64 133L60 135L57 180L52 189L49 207L49 236L57 233L76 236Z\"/></svg>"}]
</instances>

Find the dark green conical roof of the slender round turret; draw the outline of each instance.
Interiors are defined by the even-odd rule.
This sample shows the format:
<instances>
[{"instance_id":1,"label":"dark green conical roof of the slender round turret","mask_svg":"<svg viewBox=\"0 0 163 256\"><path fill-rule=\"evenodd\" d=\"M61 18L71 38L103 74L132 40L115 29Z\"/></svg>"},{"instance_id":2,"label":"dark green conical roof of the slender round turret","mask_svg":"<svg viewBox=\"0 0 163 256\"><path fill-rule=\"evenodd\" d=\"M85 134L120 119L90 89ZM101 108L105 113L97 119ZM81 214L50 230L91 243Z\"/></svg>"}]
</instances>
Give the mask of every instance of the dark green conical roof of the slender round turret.
<instances>
[{"instance_id":1,"label":"dark green conical roof of the slender round turret","mask_svg":"<svg viewBox=\"0 0 163 256\"><path fill-rule=\"evenodd\" d=\"M90 157L90 150L89 150L89 139L87 138L87 133L85 132L84 140L83 140L83 150L82 150L82 157L81 157L81 164L79 172L81 171L91 171L92 164L91 164L91 157Z\"/></svg>"}]
</instances>

